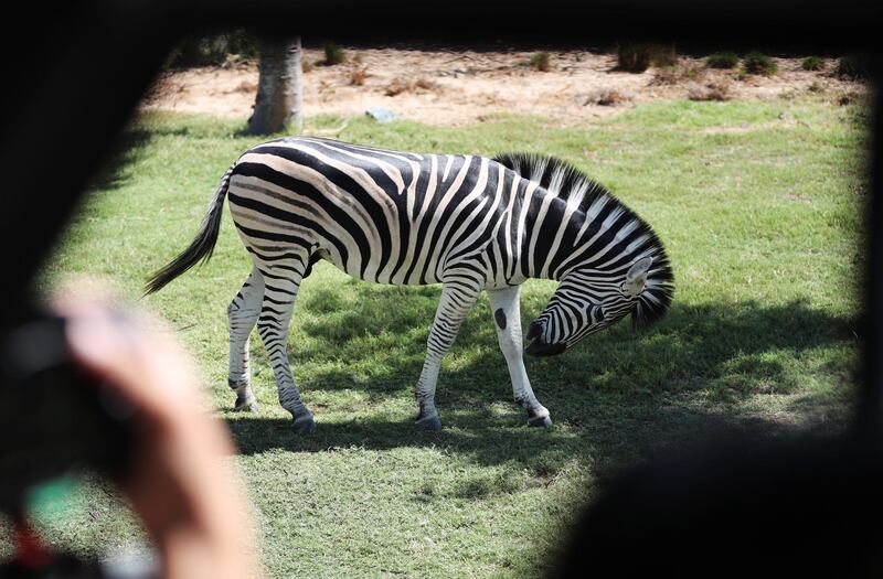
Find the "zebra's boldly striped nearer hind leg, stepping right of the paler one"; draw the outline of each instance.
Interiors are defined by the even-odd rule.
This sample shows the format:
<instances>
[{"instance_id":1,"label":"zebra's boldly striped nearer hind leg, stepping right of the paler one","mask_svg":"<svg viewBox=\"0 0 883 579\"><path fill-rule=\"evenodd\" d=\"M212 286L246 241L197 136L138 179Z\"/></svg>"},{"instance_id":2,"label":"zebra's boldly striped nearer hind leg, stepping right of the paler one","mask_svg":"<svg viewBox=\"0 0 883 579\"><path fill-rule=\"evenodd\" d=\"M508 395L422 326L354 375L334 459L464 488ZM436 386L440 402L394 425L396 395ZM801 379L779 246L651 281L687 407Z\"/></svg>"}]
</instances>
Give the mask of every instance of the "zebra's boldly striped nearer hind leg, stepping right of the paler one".
<instances>
[{"instance_id":1,"label":"zebra's boldly striped nearer hind leg, stepping right of the paler one","mask_svg":"<svg viewBox=\"0 0 883 579\"><path fill-rule=\"evenodd\" d=\"M296 432L316 430L316 422L295 384L288 364L288 326L295 309L297 292L309 265L309 255L295 254L291 258L273 261L260 268L264 277L264 302L257 319L257 331L267 349L273 366L279 404L291 412L291 429Z\"/></svg>"}]
</instances>

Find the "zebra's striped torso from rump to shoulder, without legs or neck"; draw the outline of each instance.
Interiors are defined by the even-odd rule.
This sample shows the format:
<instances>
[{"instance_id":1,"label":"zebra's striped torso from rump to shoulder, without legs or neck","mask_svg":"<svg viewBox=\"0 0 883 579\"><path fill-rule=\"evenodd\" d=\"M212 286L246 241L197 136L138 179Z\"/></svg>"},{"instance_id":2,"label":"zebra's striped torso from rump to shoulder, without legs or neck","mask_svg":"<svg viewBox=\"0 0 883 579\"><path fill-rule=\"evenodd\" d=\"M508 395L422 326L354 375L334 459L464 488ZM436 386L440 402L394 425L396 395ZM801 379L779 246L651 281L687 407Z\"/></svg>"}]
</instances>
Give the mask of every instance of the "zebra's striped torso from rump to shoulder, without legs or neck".
<instances>
[{"instance_id":1,"label":"zebra's striped torso from rump to shoulder, without legs or neck","mask_svg":"<svg viewBox=\"0 0 883 579\"><path fill-rule=\"evenodd\" d=\"M258 261L298 246L353 277L422 285L443 281L464 260L487 259L491 242L507 243L501 225L511 221L519 181L481 157L288 138L240 158L228 199Z\"/></svg>"}]
</instances>

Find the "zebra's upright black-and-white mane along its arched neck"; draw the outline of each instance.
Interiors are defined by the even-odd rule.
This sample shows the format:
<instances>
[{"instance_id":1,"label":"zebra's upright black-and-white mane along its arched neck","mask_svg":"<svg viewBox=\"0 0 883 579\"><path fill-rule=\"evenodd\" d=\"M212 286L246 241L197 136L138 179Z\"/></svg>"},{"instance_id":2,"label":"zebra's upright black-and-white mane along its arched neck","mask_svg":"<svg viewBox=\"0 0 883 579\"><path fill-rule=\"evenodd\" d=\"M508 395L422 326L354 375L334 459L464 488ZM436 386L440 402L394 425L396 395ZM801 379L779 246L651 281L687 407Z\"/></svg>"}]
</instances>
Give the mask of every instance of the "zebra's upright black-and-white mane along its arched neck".
<instances>
[{"instance_id":1,"label":"zebra's upright black-and-white mane along its arched neck","mask_svg":"<svg viewBox=\"0 0 883 579\"><path fill-rule=\"evenodd\" d=\"M616 199L607 187L567 161L525 152L502 153L493 157L493 160L533 181L582 213L589 213L593 206L610 206L611 214L621 213L626 217L618 219L619 223L634 222L638 235L642 235L645 239L634 253L651 256L653 265L647 277L646 289L631 313L631 324L636 330L649 328L666 314L674 296L674 275L662 242L647 222ZM598 201L602 203L596 204Z\"/></svg>"}]
</instances>

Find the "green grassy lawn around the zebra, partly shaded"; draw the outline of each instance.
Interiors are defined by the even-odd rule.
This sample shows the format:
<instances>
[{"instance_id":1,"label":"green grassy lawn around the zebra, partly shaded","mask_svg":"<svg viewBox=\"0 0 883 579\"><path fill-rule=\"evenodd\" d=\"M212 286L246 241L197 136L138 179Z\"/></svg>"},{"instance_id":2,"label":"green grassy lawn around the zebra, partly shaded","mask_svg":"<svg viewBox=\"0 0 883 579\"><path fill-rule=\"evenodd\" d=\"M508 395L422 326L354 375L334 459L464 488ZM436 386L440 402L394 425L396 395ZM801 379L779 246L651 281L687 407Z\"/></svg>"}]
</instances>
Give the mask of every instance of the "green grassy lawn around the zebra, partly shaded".
<instances>
[{"instance_id":1,"label":"green grassy lawn around the zebra, partly shaded","mask_svg":"<svg viewBox=\"0 0 883 579\"><path fill-rule=\"evenodd\" d=\"M311 119L313 128L339 118ZM663 103L587 127L498 117L458 129L352 119L343 140L425 152L563 157L609 186L666 243L669 315L627 323L528 372L555 421L528 429L483 299L445 360L445 430L415 432L412 387L440 288L382 287L320 264L289 340L319 430L295 436L254 340L258 415L230 411L225 309L249 271L225 215L214 258L141 303L180 329L241 450L270 577L535 576L620 468L695 441L837 431L855 395L864 191L863 109L821 100ZM151 115L71 225L41 285L87 274L131 299L192 238L223 171L256 141L241 124ZM225 212L226 213L226 212ZM554 285L525 285L522 323ZM86 484L58 545L95 553L140 532Z\"/></svg>"}]
</instances>

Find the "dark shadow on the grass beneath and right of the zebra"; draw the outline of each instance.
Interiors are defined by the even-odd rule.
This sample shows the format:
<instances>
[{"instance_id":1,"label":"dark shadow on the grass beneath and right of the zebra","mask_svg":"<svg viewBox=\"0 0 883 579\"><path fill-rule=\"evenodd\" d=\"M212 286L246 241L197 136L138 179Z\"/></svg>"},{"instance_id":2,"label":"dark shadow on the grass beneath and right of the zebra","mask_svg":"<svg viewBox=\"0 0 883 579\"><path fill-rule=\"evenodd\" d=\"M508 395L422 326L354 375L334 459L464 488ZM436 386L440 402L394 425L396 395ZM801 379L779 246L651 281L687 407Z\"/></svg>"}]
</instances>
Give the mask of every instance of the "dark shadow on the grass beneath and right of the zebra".
<instances>
[{"instance_id":1,"label":"dark shadow on the grass beneath and right of the zebra","mask_svg":"<svg viewBox=\"0 0 883 579\"><path fill-rule=\"evenodd\" d=\"M361 406L353 408L352 419L340 418L348 408L331 408L337 418L325 422L320 410L319 430L309 436L290 432L279 412L269 418L230 416L241 452L437 446L487 464L528 464L535 457L563 463L568 457L591 455L598 468L642 453L636 449L706 438L722 426L762 437L789 431L792 423L758 419L743 403L765 394L799 394L788 399L786 409L811 418L830 400L823 389L801 389L808 376L842 383L845 397L854 392L855 318L806 301L675 301L649 332L635 334L624 322L560 356L528 358L534 389L556 423L547 431L529 429L509 401L509 375L490 312L479 303L439 377L445 429L415 432L408 417L390 408L412 404L411 385L423 365L437 293L437 288L368 283L355 283L349 297L315 290L299 304L307 312L299 330L310 339L292 339L295 374L298 368L315 371L298 376L308 403L326 396L333 405L336 395L352 390L360 394ZM524 324L542 308L541 293L526 292ZM834 420L832 427L842 422Z\"/></svg>"}]
</instances>

